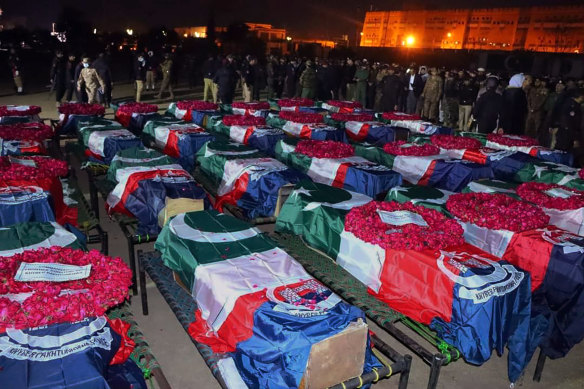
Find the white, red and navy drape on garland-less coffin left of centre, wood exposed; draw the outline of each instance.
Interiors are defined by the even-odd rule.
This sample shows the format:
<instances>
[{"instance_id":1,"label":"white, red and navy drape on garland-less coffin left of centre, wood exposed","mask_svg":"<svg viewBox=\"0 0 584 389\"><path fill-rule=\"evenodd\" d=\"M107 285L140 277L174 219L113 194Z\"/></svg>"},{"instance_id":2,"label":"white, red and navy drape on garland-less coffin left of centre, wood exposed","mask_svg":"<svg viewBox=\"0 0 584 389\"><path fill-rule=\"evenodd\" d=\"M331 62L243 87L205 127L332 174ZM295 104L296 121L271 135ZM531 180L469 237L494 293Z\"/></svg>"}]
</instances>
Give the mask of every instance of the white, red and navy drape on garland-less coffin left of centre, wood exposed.
<instances>
[{"instance_id":1,"label":"white, red and navy drape on garland-less coffin left of centre, wood exposed","mask_svg":"<svg viewBox=\"0 0 584 389\"><path fill-rule=\"evenodd\" d=\"M118 169L117 185L107 196L108 213L119 212L138 219L138 235L160 232L158 214L166 199L205 199L207 195L180 165L133 166Z\"/></svg>"}]
</instances>

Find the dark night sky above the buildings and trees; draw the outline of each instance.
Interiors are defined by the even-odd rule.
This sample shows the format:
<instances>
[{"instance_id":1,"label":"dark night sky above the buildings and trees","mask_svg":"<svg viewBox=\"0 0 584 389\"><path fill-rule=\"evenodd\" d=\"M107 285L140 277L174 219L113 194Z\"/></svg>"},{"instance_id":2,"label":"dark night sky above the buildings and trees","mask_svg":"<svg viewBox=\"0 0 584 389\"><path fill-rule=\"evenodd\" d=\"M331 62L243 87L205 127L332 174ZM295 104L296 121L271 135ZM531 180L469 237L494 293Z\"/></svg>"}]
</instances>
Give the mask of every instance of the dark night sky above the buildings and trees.
<instances>
[{"instance_id":1,"label":"dark night sky above the buildings and trees","mask_svg":"<svg viewBox=\"0 0 584 389\"><path fill-rule=\"evenodd\" d=\"M4 18L26 17L26 27L50 28L63 6L83 11L92 27L121 30L132 27L206 25L210 4L215 4L216 25L233 21L270 23L288 35L332 38L355 34L366 10L411 8L484 8L496 6L554 5L558 0L2 0ZM561 1L582 4L582 0Z\"/></svg>"}]
</instances>

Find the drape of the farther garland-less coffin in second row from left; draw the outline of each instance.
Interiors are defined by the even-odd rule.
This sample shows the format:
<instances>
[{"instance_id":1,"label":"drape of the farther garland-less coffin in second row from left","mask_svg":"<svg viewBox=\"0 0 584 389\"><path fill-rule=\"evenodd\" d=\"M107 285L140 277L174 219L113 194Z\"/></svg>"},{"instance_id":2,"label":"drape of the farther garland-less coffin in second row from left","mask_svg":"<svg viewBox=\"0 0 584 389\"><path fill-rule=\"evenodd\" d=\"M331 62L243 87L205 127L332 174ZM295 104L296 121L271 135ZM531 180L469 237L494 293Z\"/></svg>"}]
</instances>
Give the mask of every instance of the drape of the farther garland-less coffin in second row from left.
<instances>
[{"instance_id":1,"label":"drape of the farther garland-less coffin in second row from left","mask_svg":"<svg viewBox=\"0 0 584 389\"><path fill-rule=\"evenodd\" d=\"M81 136L89 159L106 165L118 151L142 145L140 138L124 128L85 129Z\"/></svg>"}]
</instances>

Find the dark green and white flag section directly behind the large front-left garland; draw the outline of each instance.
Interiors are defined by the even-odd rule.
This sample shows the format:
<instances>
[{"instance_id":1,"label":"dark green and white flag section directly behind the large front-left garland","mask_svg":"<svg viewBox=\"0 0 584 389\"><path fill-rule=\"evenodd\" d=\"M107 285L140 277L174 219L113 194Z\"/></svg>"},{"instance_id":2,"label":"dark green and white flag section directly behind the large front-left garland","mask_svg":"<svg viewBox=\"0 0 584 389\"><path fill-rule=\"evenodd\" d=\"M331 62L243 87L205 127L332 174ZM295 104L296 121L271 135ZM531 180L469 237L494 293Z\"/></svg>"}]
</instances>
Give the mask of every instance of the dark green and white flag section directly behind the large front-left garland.
<instances>
[{"instance_id":1,"label":"dark green and white flag section directly behind the large front-left garland","mask_svg":"<svg viewBox=\"0 0 584 389\"><path fill-rule=\"evenodd\" d=\"M0 228L0 257L52 246L85 249L73 233L55 222L27 222Z\"/></svg>"}]
</instances>

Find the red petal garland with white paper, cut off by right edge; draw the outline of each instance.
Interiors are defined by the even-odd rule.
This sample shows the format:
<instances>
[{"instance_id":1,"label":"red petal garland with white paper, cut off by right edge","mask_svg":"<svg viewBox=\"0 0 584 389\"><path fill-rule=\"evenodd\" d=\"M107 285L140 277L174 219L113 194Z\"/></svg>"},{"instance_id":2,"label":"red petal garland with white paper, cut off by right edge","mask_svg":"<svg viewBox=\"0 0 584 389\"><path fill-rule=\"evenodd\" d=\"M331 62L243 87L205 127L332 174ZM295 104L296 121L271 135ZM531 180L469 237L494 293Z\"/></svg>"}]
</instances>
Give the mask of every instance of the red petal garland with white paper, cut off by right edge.
<instances>
[{"instance_id":1,"label":"red petal garland with white paper, cut off by right edge","mask_svg":"<svg viewBox=\"0 0 584 389\"><path fill-rule=\"evenodd\" d=\"M571 192L567 198L554 197L546 193L551 189L561 189ZM584 191L571 189L557 184L544 184L539 182L525 182L517 187L517 194L525 201L529 201L543 208L568 209L584 208Z\"/></svg>"}]
</instances>

